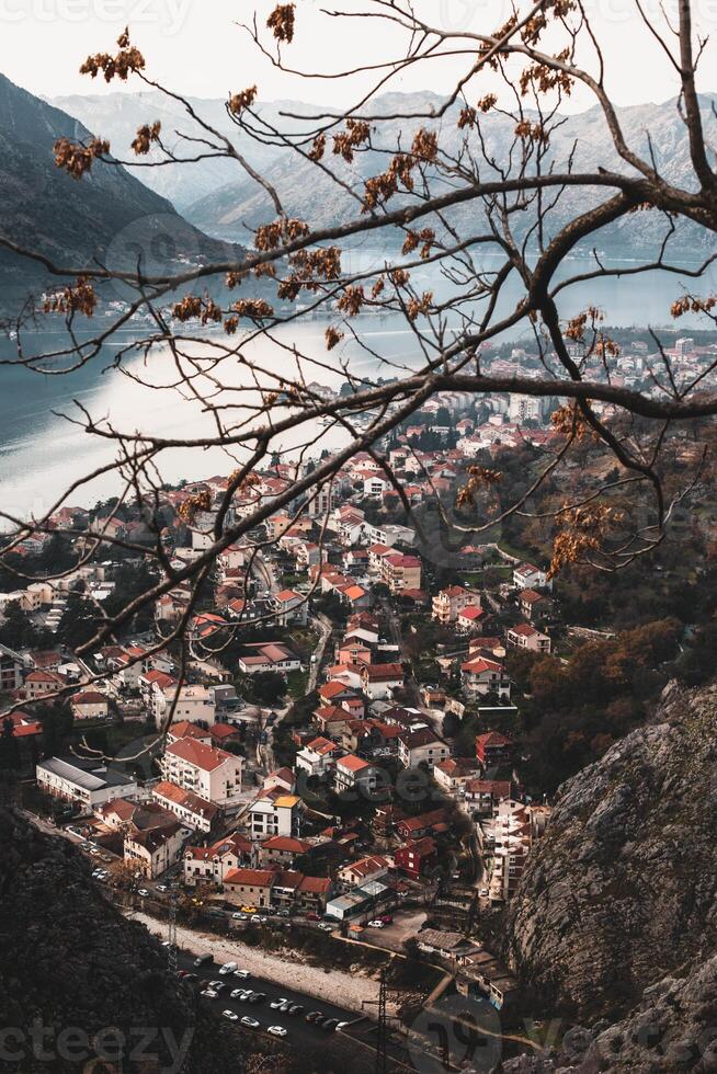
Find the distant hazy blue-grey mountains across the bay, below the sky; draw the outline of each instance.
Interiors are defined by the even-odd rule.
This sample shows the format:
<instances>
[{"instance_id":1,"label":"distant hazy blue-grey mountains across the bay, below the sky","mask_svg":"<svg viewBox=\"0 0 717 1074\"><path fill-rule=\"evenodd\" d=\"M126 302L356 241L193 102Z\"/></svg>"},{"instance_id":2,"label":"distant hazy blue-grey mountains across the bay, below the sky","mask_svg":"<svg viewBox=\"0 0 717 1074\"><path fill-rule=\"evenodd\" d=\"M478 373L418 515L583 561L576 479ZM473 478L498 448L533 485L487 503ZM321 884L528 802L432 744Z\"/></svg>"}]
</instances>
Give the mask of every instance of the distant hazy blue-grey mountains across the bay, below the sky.
<instances>
[{"instance_id":1,"label":"distant hazy blue-grey mountains across the bay, below the sky","mask_svg":"<svg viewBox=\"0 0 717 1074\"><path fill-rule=\"evenodd\" d=\"M167 100L159 93L114 93L105 96L61 98L54 103L77 116L94 134L110 138L113 146L117 147L115 151L120 152L118 147L130 144L138 126L155 119L162 122L162 136L167 137L168 144L174 149L181 147L180 134L197 134L196 124L186 116L181 105L175 102L168 104ZM714 101L715 98L709 94L702 99L708 140L714 140L717 135ZM430 92L387 93L372 103L372 111L385 115L429 113L437 110L442 103L442 98ZM289 216L297 216L320 228L356 216L356 201L311 162L301 160L292 150L265 145L239 132L228 117L224 101L191 100L190 104L218 130L232 137L240 151L255 168L263 171L278 191ZM268 124L278 124L284 129L309 127L309 124L301 124L285 113L311 117L318 111L316 105L297 101L258 104L257 110ZM376 142L389 148L400 140L406 146L414 129L423 123L431 129L440 129L442 147L456 153L463 137L463 132L457 128L457 115L458 106L454 105L440 121L387 119L380 124ZM681 185L690 184L692 167L687 138L674 99L661 104L618 108L617 115L630 146L646 157L651 152L668 181ZM480 117L480 135L488 162L480 157L477 137L473 148L479 159L481 178L497 176L491 160L497 165L504 167L514 141L514 126L513 119L499 112ZM551 135L544 170L549 165L565 170L569 158L572 158L576 171L594 170L598 167L626 170L626 165L617 158L603 114L598 107L561 118ZM327 159L342 181L358 194L363 191L365 180L383 171L387 160L385 153L371 150L356 153L351 163L330 155ZM141 169L136 174L152 190L168 197L197 228L223 240L248 242L251 240L252 228L275 216L271 199L263 187L244 175L234 161L207 160L200 164ZM550 227L555 230L591 201L598 202L604 196L602 190L595 190L588 196L584 191L564 192L550 214ZM523 219L516 230L524 233L532 221L532 214L520 216ZM470 229L473 233L477 233L481 226L480 216L476 219L475 203L466 203L454 209L449 218L464 235L469 233ZM646 227L642 214L630 215L601 232L599 245L626 258L655 249L664 227L657 216L652 219L655 226ZM702 256L712 244L710 236L685 221L678 221L676 235L671 241L672 247L682 255L692 256Z\"/></svg>"}]
</instances>

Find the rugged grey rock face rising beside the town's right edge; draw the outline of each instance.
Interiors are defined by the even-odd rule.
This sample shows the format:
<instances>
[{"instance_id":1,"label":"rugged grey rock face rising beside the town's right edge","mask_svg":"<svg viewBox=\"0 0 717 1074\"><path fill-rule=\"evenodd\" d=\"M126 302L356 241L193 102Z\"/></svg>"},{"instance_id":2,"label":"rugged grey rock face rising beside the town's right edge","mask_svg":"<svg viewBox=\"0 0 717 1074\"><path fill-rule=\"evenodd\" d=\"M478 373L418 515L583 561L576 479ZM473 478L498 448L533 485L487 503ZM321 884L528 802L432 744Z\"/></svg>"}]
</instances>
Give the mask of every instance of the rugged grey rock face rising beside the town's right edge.
<instances>
[{"instance_id":1,"label":"rugged grey rock face rising beside the town's right edge","mask_svg":"<svg viewBox=\"0 0 717 1074\"><path fill-rule=\"evenodd\" d=\"M505 923L539 1006L619 1017L717 949L716 743L717 688L671 684L651 724L562 786Z\"/></svg>"}]
</instances>

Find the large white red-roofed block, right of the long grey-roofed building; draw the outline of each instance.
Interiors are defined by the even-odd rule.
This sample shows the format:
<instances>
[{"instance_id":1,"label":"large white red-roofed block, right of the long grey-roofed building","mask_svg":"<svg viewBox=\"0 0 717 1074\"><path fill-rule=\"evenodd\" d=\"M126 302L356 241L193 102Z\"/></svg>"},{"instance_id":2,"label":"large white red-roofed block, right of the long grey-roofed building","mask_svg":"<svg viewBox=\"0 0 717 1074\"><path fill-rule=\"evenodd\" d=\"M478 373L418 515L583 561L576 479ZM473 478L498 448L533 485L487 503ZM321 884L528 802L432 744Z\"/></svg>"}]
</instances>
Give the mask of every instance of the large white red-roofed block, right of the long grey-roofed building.
<instances>
[{"instance_id":1,"label":"large white red-roofed block, right of the long grey-roofed building","mask_svg":"<svg viewBox=\"0 0 717 1074\"><path fill-rule=\"evenodd\" d=\"M243 758L193 739L179 739L168 745L159 762L169 782L191 790L225 812L241 801Z\"/></svg>"}]
</instances>

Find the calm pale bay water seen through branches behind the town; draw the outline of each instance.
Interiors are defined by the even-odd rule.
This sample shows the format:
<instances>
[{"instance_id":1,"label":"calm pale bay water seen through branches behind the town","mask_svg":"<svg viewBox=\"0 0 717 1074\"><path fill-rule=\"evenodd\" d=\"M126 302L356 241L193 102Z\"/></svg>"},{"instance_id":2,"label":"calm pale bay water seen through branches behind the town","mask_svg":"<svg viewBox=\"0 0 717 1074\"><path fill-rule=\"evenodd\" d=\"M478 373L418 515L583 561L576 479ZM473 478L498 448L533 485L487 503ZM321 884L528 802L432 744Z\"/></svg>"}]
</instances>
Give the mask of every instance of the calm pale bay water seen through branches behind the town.
<instances>
[{"instance_id":1,"label":"calm pale bay water seen through branches behind the town","mask_svg":"<svg viewBox=\"0 0 717 1074\"><path fill-rule=\"evenodd\" d=\"M363 263L371 255L361 254ZM584 271L589 266L579 261L569 263L571 272ZM352 268L356 265L352 264ZM431 288L441 294L441 283L431 278L428 271L413 274L413 282L420 289ZM717 287L714 274L698 285L678 276L651 273L630 279L589 282L571 286L560 296L560 312L570 317L594 304L605 310L606 323L623 327L660 327L669 323L669 309L685 287L694 287L699 294L708 294ZM516 292L507 295L507 301L515 300ZM508 305L504 307L508 308ZM322 368L327 357L334 359L340 354L349 368L355 374L378 374L395 376L408 370L421 361L413 333L406 328L402 319L394 316L365 316L353 322L365 349L354 341L346 340L339 350L327 355L323 332L326 321L316 320L285 327L277 331L276 342L262 340L247 350L250 361L255 361L277 375L291 377L296 373L295 358L291 346L295 344L305 354L315 357L316 363L304 367L307 381L318 381L337 388L343 377ZM680 322L685 331L691 327L687 318ZM692 322L696 327L696 322ZM126 343L130 336L124 336ZM520 339L519 335L515 339ZM50 336L35 340L37 349L56 343ZM198 354L200 352L197 352ZM0 341L0 356L12 357L13 344ZM170 387L174 377L172 358L169 353L156 353L145 365L139 357L126 363L129 374L107 368L116 349L107 349L101 358L88 367L67 376L46 376L33 374L22 368L0 366L0 489L5 510L18 515L27 512L39 514L52 504L60 490L83 475L111 461L113 445L98 437L89 436L72 425L68 416L80 419L76 402L87 408L94 420L109 418L113 424L125 432L139 431L170 437L189 435L210 435L212 419L203 413L201 405L183 398ZM225 392L221 403L237 404L246 401L246 387L250 382L246 368L236 359L224 363L220 375L223 381L243 391ZM141 376L160 388L151 390L133 379ZM207 381L204 381L206 387ZM237 416L241 411L237 411ZM242 416L247 416L244 413ZM341 433L316 430L321 435L321 447L335 447ZM303 434L306 436L306 433ZM303 437L285 438L284 447L298 447ZM316 448L314 449L316 453ZM166 481L177 482L181 478L193 479L217 472L228 472L235 466L235 458L220 448L203 453L172 450L163 456L161 476ZM95 479L69 496L68 502L91 504L98 499L115 494L118 482L114 475Z\"/></svg>"}]
</instances>

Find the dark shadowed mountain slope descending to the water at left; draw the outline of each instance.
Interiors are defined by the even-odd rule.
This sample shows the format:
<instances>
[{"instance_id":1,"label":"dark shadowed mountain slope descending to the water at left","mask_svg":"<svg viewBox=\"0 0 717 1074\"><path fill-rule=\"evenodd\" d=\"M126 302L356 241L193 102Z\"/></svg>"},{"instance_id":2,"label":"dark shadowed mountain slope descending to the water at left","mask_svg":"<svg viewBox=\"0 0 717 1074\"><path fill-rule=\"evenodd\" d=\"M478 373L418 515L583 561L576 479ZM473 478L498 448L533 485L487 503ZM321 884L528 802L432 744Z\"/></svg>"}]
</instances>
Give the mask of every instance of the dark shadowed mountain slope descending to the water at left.
<instances>
[{"instance_id":1,"label":"dark shadowed mountain slope descending to the water at left","mask_svg":"<svg viewBox=\"0 0 717 1074\"><path fill-rule=\"evenodd\" d=\"M75 117L0 75L0 232L55 263L178 270L226 255L223 243L187 224L166 198L124 168L93 165L82 180L60 171L53 146L90 132ZM0 250L0 300L48 284L38 263ZM55 277L57 283L57 277Z\"/></svg>"}]
</instances>

